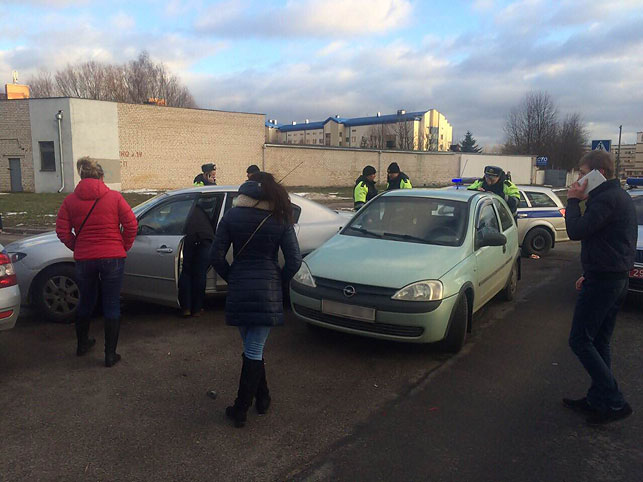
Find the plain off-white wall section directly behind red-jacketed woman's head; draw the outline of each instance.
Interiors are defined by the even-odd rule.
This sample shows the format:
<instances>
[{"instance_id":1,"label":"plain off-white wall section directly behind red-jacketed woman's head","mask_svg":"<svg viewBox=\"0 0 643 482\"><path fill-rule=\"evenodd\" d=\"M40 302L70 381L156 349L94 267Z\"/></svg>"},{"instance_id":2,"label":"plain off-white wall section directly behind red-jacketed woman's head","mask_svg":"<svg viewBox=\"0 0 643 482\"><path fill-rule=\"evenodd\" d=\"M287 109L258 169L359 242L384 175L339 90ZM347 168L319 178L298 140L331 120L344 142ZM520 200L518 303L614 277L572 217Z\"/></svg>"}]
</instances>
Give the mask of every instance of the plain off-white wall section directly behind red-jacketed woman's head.
<instances>
[{"instance_id":1,"label":"plain off-white wall section directly behind red-jacketed woman's head","mask_svg":"<svg viewBox=\"0 0 643 482\"><path fill-rule=\"evenodd\" d=\"M118 104L87 99L70 99L74 185L80 182L76 161L84 156L97 159L105 171L105 183L121 189L118 149ZM66 167L66 166L65 166Z\"/></svg>"}]
</instances>

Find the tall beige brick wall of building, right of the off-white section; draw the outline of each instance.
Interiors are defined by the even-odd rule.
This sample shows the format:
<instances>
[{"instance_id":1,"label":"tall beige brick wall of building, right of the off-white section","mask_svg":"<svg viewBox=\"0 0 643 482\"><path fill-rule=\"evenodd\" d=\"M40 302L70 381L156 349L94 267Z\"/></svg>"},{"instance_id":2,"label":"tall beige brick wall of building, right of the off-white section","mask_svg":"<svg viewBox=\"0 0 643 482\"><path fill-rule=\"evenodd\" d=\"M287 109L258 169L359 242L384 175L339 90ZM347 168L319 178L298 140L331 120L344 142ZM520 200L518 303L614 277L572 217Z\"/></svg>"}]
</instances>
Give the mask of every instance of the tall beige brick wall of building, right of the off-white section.
<instances>
[{"instance_id":1,"label":"tall beige brick wall of building, right of the off-white section","mask_svg":"<svg viewBox=\"0 0 643 482\"><path fill-rule=\"evenodd\" d=\"M217 165L217 184L239 184L262 164L261 114L118 104L123 189L192 185L201 164Z\"/></svg>"}]
</instances>

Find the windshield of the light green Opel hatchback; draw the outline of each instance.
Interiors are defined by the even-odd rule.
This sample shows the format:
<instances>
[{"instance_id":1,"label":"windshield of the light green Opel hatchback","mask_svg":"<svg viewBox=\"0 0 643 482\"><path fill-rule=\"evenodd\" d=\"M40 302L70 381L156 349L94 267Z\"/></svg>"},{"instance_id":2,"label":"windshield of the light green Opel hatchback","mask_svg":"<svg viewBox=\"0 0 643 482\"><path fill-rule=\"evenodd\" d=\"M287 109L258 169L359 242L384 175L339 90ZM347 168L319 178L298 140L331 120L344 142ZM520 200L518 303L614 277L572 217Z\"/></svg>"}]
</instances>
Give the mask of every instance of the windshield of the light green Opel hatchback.
<instances>
[{"instance_id":1,"label":"windshield of the light green Opel hatchback","mask_svg":"<svg viewBox=\"0 0 643 482\"><path fill-rule=\"evenodd\" d=\"M342 234L459 246L466 234L467 208L462 201L382 196L362 208Z\"/></svg>"}]
</instances>

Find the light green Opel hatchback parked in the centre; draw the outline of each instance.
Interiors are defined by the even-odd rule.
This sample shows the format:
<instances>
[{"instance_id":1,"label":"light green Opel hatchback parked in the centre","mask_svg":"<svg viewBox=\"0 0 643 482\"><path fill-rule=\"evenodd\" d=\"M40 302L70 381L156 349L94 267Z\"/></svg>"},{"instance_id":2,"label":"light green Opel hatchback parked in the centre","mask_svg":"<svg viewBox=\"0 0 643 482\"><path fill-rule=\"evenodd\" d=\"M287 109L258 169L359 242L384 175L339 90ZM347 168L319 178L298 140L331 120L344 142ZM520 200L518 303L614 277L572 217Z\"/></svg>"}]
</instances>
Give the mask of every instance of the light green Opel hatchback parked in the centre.
<instances>
[{"instance_id":1,"label":"light green Opel hatchback parked in the centre","mask_svg":"<svg viewBox=\"0 0 643 482\"><path fill-rule=\"evenodd\" d=\"M457 352L473 314L520 279L516 223L479 191L404 189L366 204L306 257L294 313L326 328Z\"/></svg>"}]
</instances>

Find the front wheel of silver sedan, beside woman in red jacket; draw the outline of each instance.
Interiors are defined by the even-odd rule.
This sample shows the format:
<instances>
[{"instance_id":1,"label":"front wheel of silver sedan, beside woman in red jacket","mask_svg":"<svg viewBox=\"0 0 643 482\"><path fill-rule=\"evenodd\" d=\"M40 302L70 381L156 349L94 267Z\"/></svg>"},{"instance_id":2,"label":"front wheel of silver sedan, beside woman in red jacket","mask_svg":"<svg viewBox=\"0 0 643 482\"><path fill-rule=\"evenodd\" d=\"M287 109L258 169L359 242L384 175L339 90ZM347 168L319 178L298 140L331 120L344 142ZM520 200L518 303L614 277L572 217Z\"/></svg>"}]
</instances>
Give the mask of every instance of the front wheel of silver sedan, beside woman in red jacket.
<instances>
[{"instance_id":1,"label":"front wheel of silver sedan, beside woman in red jacket","mask_svg":"<svg viewBox=\"0 0 643 482\"><path fill-rule=\"evenodd\" d=\"M80 300L73 265L61 264L45 269L34 283L36 310L55 323L72 322Z\"/></svg>"}]
</instances>

